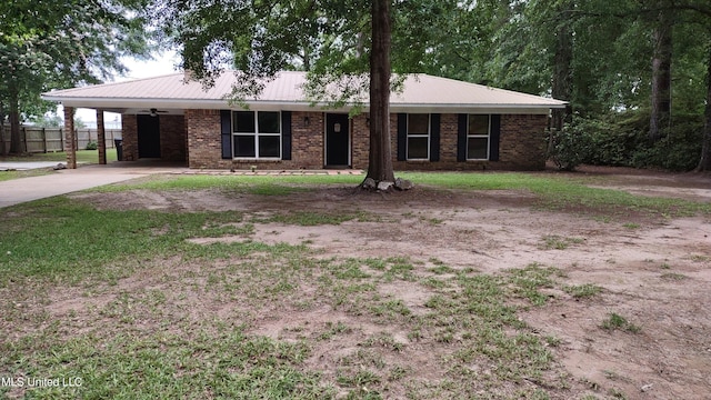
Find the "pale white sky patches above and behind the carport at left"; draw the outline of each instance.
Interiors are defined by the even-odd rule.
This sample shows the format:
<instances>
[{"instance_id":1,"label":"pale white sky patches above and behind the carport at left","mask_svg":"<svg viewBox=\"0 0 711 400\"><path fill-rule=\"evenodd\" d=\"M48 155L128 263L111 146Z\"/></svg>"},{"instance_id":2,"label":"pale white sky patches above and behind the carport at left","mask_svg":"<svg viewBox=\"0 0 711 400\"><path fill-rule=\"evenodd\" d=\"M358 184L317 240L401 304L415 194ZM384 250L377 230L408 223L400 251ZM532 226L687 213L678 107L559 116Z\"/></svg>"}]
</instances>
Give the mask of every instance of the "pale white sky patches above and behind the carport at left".
<instances>
[{"instance_id":1,"label":"pale white sky patches above and behind the carport at left","mask_svg":"<svg viewBox=\"0 0 711 400\"><path fill-rule=\"evenodd\" d=\"M179 62L178 56L174 51L168 51L153 56L153 60L140 61L136 59L124 59L123 64L129 69L129 72L124 77L114 77L113 82L123 82L127 80L159 77L163 74L174 73L176 64ZM61 108L59 109L60 116L62 116ZM97 126L97 111L92 109L77 109L76 116L89 128L96 128ZM107 128L120 128L120 114L113 112L106 112L103 120Z\"/></svg>"}]
</instances>

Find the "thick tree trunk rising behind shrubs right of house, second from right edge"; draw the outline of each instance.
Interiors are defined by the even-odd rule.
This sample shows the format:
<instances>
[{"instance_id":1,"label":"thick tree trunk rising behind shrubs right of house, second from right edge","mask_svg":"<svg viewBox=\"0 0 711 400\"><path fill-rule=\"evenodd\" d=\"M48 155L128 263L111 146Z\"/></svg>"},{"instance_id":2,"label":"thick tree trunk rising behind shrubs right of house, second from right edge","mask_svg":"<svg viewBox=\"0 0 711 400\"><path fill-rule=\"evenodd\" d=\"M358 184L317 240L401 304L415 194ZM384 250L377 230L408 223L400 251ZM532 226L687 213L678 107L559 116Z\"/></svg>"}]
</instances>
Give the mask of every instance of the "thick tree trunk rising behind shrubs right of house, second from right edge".
<instances>
[{"instance_id":1,"label":"thick tree trunk rising behind shrubs right of house, second from right edge","mask_svg":"<svg viewBox=\"0 0 711 400\"><path fill-rule=\"evenodd\" d=\"M652 58L652 116L650 118L649 140L655 142L671 122L671 57L673 11L659 12L654 29L654 56Z\"/></svg>"}]
</instances>

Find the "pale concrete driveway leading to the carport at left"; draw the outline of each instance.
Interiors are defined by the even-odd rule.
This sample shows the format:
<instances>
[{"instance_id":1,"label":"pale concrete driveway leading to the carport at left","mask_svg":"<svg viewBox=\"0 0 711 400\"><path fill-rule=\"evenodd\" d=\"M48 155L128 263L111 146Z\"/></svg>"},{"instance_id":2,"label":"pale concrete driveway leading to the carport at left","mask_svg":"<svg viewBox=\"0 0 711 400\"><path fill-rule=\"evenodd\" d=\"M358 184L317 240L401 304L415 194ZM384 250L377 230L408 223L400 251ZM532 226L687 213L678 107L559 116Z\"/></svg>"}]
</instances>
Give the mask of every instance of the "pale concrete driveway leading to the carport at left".
<instances>
[{"instance_id":1,"label":"pale concrete driveway leading to the carport at left","mask_svg":"<svg viewBox=\"0 0 711 400\"><path fill-rule=\"evenodd\" d=\"M187 169L174 166L140 163L131 166L128 162L117 162L108 166L86 166L74 170L66 169L41 177L12 179L0 182L0 208L143 178L153 173L176 173L181 170Z\"/></svg>"}]
</instances>

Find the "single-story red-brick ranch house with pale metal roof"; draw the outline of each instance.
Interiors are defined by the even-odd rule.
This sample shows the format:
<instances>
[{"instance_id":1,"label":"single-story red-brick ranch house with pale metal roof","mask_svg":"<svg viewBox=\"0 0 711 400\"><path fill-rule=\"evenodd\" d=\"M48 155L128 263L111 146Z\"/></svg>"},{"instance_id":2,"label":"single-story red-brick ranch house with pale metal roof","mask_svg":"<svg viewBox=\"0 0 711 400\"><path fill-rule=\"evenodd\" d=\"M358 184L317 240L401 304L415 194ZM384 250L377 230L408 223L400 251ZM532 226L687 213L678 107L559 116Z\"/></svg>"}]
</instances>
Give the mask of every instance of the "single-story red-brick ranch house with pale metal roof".
<instances>
[{"instance_id":1,"label":"single-story red-brick ranch house with pale metal roof","mask_svg":"<svg viewBox=\"0 0 711 400\"><path fill-rule=\"evenodd\" d=\"M304 98L303 72L281 72L259 98L230 106L232 73L204 90L183 73L58 90L43 98L66 112L122 114L123 160L159 158L191 168L321 169L368 167L368 104L324 109ZM542 169L544 130L564 102L437 78L410 76L392 93L395 170Z\"/></svg>"}]
</instances>

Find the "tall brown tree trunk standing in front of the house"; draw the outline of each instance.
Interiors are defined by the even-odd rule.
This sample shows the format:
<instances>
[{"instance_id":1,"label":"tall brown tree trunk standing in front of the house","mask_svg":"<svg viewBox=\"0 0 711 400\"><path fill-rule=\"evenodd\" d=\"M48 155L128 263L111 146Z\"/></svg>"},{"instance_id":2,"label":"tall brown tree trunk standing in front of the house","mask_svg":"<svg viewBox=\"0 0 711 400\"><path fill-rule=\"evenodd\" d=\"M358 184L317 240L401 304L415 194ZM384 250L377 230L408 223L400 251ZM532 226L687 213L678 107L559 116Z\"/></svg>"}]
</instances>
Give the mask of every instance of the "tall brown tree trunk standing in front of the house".
<instances>
[{"instance_id":1,"label":"tall brown tree trunk standing in front of the house","mask_svg":"<svg viewBox=\"0 0 711 400\"><path fill-rule=\"evenodd\" d=\"M368 177L394 181L390 150L390 0L372 1Z\"/></svg>"}]
</instances>

